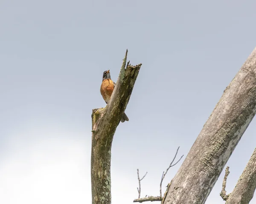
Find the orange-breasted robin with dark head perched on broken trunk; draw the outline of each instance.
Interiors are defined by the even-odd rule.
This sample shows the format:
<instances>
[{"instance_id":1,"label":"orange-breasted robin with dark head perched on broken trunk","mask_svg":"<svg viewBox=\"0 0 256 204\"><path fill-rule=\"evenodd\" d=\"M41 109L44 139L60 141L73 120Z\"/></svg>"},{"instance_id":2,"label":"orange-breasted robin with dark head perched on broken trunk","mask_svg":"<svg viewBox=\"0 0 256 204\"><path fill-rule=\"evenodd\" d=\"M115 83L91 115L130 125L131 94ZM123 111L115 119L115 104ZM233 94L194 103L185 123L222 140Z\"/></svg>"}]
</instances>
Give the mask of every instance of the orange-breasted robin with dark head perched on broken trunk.
<instances>
[{"instance_id":1,"label":"orange-breasted robin with dark head perched on broken trunk","mask_svg":"<svg viewBox=\"0 0 256 204\"><path fill-rule=\"evenodd\" d=\"M113 90L116 86L116 83L111 80L110 72L105 71L103 72L103 79L102 79L102 85L100 86L100 93L106 103L110 100L110 97L113 93ZM121 118L121 122L129 121L129 118L124 113L124 115Z\"/></svg>"}]
</instances>

